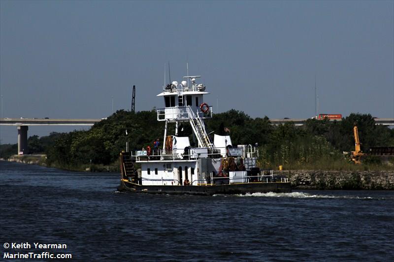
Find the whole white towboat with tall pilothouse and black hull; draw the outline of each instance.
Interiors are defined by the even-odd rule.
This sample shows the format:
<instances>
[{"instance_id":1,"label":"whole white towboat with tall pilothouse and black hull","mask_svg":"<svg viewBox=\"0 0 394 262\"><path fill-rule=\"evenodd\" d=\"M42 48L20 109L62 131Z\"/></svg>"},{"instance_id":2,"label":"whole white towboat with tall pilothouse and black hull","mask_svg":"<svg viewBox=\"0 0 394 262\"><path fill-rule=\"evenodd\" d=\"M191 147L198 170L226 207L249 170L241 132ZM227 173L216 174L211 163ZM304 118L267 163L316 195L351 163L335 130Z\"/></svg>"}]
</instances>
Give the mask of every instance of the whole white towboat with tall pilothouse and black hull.
<instances>
[{"instance_id":1,"label":"whole white towboat with tall pilothouse and black hull","mask_svg":"<svg viewBox=\"0 0 394 262\"><path fill-rule=\"evenodd\" d=\"M158 97L164 108L157 109L157 120L165 121L164 139L155 146L120 153L121 184L119 191L158 194L246 194L288 193L289 179L271 170L256 166L257 145L232 145L229 130L226 135L209 133L204 119L212 117L212 107L204 102L200 76L185 76L163 86ZM182 136L180 125L190 124L191 136ZM175 126L173 135L168 127ZM168 131L168 132L167 132ZM159 140L159 139L158 139ZM137 169L136 163L140 165Z\"/></svg>"}]
</instances>

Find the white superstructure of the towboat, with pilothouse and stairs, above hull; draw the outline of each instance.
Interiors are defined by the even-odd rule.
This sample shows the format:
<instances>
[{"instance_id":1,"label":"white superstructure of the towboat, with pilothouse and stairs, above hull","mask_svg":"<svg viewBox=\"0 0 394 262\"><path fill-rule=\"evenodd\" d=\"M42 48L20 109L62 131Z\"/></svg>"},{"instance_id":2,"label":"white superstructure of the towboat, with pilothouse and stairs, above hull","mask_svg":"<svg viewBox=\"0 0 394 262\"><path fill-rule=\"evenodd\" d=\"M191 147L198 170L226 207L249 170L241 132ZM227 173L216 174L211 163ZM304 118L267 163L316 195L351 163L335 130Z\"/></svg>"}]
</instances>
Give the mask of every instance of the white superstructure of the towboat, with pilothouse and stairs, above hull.
<instances>
[{"instance_id":1,"label":"white superstructure of the towboat, with pilothouse and stairs, above hull","mask_svg":"<svg viewBox=\"0 0 394 262\"><path fill-rule=\"evenodd\" d=\"M227 161L228 156L244 166L244 171L230 170L230 183L246 181L245 170L255 167L256 148L232 147L230 136L215 134L215 141L211 141L203 119L212 117L212 107L204 102L204 95L209 93L205 92L203 84L197 84L199 77L186 76L184 78L188 81L180 84L174 81L157 95L163 97L165 105L157 109L158 121L165 121L163 146L131 152L135 162L141 164L139 180L142 185L183 185L185 181L190 185L213 183L215 176L223 171L223 161ZM195 146L191 146L189 137L178 136L181 122L190 123ZM175 135L167 136L169 123L175 123ZM246 161L246 155L254 161Z\"/></svg>"}]
</instances>

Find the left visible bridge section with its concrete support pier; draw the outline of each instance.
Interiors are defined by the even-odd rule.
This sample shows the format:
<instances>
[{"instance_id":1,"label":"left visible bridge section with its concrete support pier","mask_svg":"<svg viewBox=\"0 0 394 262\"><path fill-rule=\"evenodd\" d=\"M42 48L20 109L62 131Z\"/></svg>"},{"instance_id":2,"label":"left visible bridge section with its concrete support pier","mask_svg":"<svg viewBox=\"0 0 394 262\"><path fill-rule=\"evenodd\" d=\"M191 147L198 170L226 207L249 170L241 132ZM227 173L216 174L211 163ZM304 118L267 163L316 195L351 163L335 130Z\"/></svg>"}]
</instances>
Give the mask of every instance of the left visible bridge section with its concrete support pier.
<instances>
[{"instance_id":1,"label":"left visible bridge section with its concrete support pier","mask_svg":"<svg viewBox=\"0 0 394 262\"><path fill-rule=\"evenodd\" d=\"M29 125L84 125L92 126L101 119L0 118L0 125L13 125L18 129L18 155L28 151Z\"/></svg>"}]
</instances>

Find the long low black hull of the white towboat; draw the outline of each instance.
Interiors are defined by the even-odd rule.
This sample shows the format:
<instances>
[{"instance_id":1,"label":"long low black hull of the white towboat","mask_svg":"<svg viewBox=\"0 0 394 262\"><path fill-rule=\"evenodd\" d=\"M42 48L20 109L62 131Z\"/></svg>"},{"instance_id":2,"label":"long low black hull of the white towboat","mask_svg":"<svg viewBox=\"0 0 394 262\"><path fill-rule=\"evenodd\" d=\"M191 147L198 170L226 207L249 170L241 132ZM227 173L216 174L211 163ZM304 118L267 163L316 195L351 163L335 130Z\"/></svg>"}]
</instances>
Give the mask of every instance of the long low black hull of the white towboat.
<instances>
[{"instance_id":1,"label":"long low black hull of the white towboat","mask_svg":"<svg viewBox=\"0 0 394 262\"><path fill-rule=\"evenodd\" d=\"M212 196L215 194L246 194L246 193L291 193L290 182L270 182L270 183L242 183L242 184L225 184L212 186L142 186L129 182L121 181L118 187L119 191L133 193L151 193L151 194L189 194Z\"/></svg>"}]
</instances>

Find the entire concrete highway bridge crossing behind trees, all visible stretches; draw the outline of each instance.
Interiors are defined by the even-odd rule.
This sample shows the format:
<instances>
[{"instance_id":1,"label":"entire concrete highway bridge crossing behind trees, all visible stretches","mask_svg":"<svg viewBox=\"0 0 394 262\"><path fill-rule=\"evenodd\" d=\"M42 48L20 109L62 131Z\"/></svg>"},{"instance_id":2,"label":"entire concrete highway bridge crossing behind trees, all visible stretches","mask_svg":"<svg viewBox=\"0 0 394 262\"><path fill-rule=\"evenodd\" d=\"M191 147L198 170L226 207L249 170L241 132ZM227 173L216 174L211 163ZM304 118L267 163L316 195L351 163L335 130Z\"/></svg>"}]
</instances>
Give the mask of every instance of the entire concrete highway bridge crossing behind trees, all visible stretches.
<instances>
[{"instance_id":1,"label":"entire concrete highway bridge crossing behind trees, all visible stretches","mask_svg":"<svg viewBox=\"0 0 394 262\"><path fill-rule=\"evenodd\" d=\"M27 152L28 148L28 129L29 125L84 125L92 126L102 119L50 119L50 118L0 118L0 125L13 125L18 129L18 154ZM279 125L287 122L293 122L300 126L305 123L308 118L277 118L269 119L272 124ZM330 120L341 121L341 119ZM394 118L375 118L376 124L394 125Z\"/></svg>"}]
</instances>

